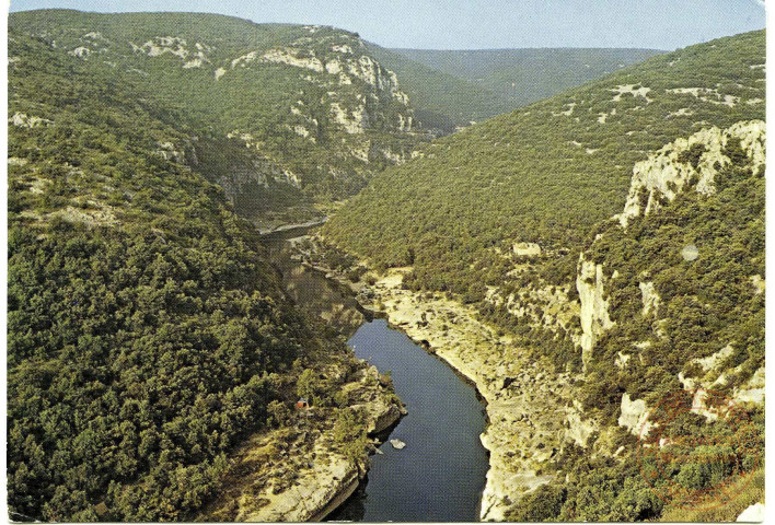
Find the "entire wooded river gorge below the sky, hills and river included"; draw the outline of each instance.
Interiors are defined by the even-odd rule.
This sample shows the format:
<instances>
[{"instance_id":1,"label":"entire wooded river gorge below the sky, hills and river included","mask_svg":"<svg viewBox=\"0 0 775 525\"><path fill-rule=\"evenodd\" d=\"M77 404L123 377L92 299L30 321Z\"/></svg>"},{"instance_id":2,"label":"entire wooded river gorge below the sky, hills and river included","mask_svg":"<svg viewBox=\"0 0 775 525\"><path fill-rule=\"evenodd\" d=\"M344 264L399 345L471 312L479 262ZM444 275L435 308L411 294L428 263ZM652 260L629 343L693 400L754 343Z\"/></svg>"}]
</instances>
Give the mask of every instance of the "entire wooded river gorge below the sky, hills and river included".
<instances>
[{"instance_id":1,"label":"entire wooded river gorge below the sky, hills and river included","mask_svg":"<svg viewBox=\"0 0 775 525\"><path fill-rule=\"evenodd\" d=\"M425 52L14 13L11 516L750 516L764 42ZM649 422L669 398L691 409Z\"/></svg>"}]
</instances>

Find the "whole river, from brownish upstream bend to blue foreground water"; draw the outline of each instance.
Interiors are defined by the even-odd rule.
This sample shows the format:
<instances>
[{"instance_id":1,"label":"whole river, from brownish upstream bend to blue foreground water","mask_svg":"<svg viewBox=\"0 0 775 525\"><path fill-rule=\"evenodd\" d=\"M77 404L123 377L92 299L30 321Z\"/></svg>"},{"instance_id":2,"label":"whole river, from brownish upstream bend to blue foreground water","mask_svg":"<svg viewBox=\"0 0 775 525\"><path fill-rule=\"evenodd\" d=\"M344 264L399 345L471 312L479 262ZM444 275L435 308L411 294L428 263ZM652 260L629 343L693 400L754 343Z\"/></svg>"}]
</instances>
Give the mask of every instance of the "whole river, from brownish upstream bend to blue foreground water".
<instances>
[{"instance_id":1,"label":"whole river, from brownish upstream bend to blue foreground water","mask_svg":"<svg viewBox=\"0 0 775 525\"><path fill-rule=\"evenodd\" d=\"M310 315L340 334L354 334L348 345L356 355L391 373L408 411L390 435L379 436L383 454L371 457L367 478L326 520L477 521L488 458L479 442L486 412L476 390L386 320L371 320L336 281L292 259L289 245L310 230L299 225L264 236L286 291ZM406 447L394 448L391 439Z\"/></svg>"}]
</instances>

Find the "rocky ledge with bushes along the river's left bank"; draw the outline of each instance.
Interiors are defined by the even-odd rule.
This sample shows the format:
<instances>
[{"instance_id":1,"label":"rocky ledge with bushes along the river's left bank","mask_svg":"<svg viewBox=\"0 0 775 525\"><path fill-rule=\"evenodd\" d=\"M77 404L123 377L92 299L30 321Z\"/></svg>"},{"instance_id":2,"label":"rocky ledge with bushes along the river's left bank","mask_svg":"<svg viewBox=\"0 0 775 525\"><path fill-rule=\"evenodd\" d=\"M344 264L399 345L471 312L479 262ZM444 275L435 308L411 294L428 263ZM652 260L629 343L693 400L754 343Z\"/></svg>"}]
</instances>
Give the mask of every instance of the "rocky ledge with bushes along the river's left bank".
<instances>
[{"instance_id":1,"label":"rocky ledge with bushes along the river's left bank","mask_svg":"<svg viewBox=\"0 0 775 525\"><path fill-rule=\"evenodd\" d=\"M368 435L395 424L405 413L374 366L363 365L342 384L348 410L362 413ZM323 520L356 490L369 468L369 443L352 454L335 439L345 409L312 407L291 427L253 436L234 455L224 491L203 514L221 522L308 522Z\"/></svg>"}]
</instances>

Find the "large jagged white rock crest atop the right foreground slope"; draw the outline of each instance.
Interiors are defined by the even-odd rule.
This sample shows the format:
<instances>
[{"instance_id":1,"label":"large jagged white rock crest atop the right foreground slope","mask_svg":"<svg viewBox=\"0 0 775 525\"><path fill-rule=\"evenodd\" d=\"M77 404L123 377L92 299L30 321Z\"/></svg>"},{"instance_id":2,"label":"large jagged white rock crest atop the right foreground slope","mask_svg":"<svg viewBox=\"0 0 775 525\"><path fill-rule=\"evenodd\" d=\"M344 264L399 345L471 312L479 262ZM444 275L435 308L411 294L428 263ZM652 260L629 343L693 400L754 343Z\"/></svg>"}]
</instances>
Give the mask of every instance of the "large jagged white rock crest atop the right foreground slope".
<instances>
[{"instance_id":1,"label":"large jagged white rock crest atop the right foreground slope","mask_svg":"<svg viewBox=\"0 0 775 525\"><path fill-rule=\"evenodd\" d=\"M633 179L624 211L617 215L620 223L626 226L631 219L657 210L661 199L672 201L690 184L701 194L715 192L714 177L718 173L717 166L725 166L730 162L722 150L731 138L740 139L740 145L748 155L751 168L757 172L764 165L765 133L766 127L762 120L740 121L725 130L706 128L689 139L678 139L649 159L638 162L633 167ZM695 144L705 147L696 168L691 163L679 161L679 156Z\"/></svg>"}]
</instances>

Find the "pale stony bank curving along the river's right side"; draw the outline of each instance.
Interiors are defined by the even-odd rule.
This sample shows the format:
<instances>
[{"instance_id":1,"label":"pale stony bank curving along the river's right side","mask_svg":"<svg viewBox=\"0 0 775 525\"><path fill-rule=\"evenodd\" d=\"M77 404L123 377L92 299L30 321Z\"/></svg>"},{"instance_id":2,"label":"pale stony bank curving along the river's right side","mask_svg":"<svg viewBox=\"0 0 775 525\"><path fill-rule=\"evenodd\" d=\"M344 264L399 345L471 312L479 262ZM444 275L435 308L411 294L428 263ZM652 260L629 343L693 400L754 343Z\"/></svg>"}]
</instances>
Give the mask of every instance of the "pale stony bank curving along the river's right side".
<instances>
[{"instance_id":1,"label":"pale stony bank curving along the river's right side","mask_svg":"<svg viewBox=\"0 0 775 525\"><path fill-rule=\"evenodd\" d=\"M357 283L335 277L365 307L384 315L475 385L488 417L481 436L489 451L489 470L479 518L507 520L522 495L564 476L553 463L562 447L586 443L595 429L572 401L574 377L555 373L548 362L533 362L510 337L478 320L473 308L442 294L404 290L408 271L370 271Z\"/></svg>"}]
</instances>

